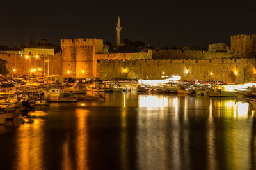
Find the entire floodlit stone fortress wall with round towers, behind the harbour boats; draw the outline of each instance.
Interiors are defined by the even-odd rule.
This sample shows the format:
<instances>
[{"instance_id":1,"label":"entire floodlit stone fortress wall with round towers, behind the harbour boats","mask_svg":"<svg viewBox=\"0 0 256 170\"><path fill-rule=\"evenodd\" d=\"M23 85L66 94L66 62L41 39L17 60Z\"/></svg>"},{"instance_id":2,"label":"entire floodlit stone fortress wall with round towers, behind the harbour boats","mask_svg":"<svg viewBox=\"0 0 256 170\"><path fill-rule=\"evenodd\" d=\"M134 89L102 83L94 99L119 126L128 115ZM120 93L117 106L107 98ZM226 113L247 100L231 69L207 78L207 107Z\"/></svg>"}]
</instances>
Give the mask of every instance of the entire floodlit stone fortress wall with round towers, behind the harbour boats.
<instances>
[{"instance_id":1,"label":"entire floodlit stone fortress wall with round towers, behind the harbour boats","mask_svg":"<svg viewBox=\"0 0 256 170\"><path fill-rule=\"evenodd\" d=\"M102 39L61 39L62 52L50 55L49 71L76 78L159 78L164 72L188 81L208 81L210 78L214 81L255 81L255 39L255 34L231 36L230 48L216 43L209 45L208 51L148 50L139 53L108 53L108 46L103 45ZM24 56L0 54L0 58L8 61L10 74L14 67L17 75L29 74L29 60ZM43 56L31 57L31 67L47 69L47 64Z\"/></svg>"}]
</instances>

